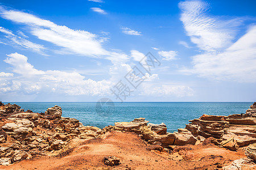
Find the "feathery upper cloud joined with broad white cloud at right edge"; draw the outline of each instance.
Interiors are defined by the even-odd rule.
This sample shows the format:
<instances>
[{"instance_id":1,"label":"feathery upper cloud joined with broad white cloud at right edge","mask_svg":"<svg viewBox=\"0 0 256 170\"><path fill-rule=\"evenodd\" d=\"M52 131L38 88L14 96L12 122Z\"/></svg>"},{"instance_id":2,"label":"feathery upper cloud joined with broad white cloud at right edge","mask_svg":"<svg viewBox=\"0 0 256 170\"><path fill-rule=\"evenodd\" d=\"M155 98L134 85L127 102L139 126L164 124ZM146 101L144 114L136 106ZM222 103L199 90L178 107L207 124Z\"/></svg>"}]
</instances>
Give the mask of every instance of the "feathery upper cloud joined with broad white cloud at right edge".
<instances>
[{"instance_id":1,"label":"feathery upper cloud joined with broad white cloud at right edge","mask_svg":"<svg viewBox=\"0 0 256 170\"><path fill-rule=\"evenodd\" d=\"M251 25L236 42L241 21L207 14L208 3L180 2L181 21L187 35L203 53L192 56L192 67L180 71L210 80L256 82L256 26Z\"/></svg>"}]
</instances>

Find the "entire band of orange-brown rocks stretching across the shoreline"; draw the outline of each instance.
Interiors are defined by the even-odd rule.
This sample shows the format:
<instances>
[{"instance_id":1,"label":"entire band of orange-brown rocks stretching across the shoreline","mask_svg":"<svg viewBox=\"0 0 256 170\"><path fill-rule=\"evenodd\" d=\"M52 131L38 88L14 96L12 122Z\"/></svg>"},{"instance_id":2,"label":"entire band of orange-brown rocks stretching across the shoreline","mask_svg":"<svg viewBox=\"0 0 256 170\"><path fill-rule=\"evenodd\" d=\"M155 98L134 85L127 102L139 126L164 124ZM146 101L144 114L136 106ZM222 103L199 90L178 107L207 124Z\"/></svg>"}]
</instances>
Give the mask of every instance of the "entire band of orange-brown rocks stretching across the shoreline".
<instances>
[{"instance_id":1,"label":"entire band of orange-brown rocks stretching across the shoreline","mask_svg":"<svg viewBox=\"0 0 256 170\"><path fill-rule=\"evenodd\" d=\"M131 132L139 135L150 150L174 150L174 146L212 143L236 151L238 147L256 143L256 103L245 114L210 116L204 114L191 120L185 129L168 133L162 124L148 124L145 118L131 122L115 122L100 129L84 126L75 118L61 117L61 107L55 105L45 113L24 112L18 105L0 103L0 164L8 165L35 155L57 155L69 149L69 143L104 137L108 131ZM213 144L214 143L214 144ZM255 160L255 145L246 155ZM109 158L106 162L111 162Z\"/></svg>"}]
</instances>

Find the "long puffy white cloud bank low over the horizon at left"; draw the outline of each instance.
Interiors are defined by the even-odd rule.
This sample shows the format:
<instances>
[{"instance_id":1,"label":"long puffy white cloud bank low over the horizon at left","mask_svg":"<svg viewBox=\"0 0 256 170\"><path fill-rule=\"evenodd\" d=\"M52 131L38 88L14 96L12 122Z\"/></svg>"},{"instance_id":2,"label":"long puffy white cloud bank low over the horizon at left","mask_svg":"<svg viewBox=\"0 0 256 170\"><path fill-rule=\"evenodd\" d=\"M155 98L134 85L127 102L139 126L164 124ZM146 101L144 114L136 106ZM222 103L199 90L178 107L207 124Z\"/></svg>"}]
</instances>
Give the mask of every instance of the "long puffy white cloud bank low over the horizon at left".
<instances>
[{"instance_id":1,"label":"long puffy white cloud bank low over the horizon at left","mask_svg":"<svg viewBox=\"0 0 256 170\"><path fill-rule=\"evenodd\" d=\"M64 94L64 95L106 95L113 86L109 80L95 81L85 79L75 71L69 73L59 70L38 70L27 57L13 53L7 55L6 63L13 66L14 73L20 74L10 80L0 79L0 94L6 92L19 92L19 94L34 94L38 92ZM1 73L0 75L6 75Z\"/></svg>"}]
</instances>

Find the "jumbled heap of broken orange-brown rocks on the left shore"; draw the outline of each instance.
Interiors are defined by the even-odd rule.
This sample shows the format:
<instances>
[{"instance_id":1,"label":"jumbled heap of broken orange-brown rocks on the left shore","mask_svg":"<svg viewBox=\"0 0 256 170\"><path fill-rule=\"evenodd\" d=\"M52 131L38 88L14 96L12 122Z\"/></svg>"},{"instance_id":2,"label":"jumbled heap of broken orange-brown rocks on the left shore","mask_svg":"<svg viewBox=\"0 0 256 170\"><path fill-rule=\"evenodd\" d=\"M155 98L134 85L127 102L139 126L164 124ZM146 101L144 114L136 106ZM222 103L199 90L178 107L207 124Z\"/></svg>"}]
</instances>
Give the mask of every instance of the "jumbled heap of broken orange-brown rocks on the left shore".
<instances>
[{"instance_id":1,"label":"jumbled heap of broken orange-brown rocks on the left shore","mask_svg":"<svg viewBox=\"0 0 256 170\"><path fill-rule=\"evenodd\" d=\"M2 104L2 103L1 103ZM56 155L65 151L73 138L92 139L102 130L83 126L75 118L61 117L55 105L45 113L24 112L18 105L0 106L0 165L8 165L34 155Z\"/></svg>"}]
</instances>

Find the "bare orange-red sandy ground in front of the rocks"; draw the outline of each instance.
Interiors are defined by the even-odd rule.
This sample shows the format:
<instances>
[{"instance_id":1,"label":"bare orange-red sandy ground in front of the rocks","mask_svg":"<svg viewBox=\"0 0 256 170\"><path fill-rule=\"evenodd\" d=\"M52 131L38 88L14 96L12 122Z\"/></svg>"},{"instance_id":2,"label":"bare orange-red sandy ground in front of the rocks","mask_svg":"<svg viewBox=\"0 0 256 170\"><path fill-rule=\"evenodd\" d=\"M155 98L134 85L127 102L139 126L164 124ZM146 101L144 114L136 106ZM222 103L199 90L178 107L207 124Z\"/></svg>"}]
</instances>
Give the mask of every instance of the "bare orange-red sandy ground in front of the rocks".
<instances>
[{"instance_id":1,"label":"bare orange-red sandy ground in front of the rocks","mask_svg":"<svg viewBox=\"0 0 256 170\"><path fill-rule=\"evenodd\" d=\"M233 160L246 158L244 148L229 151L214 145L179 146L173 154L147 150L138 135L107 133L104 138L76 139L70 150L57 156L37 156L0 169L222 169ZM121 164L109 167L103 163L105 156L117 156ZM217 168L217 165L219 168ZM251 168L243 168L251 169Z\"/></svg>"}]
</instances>

